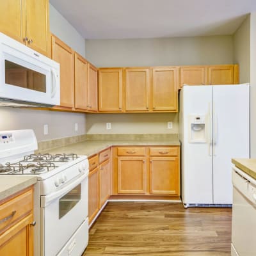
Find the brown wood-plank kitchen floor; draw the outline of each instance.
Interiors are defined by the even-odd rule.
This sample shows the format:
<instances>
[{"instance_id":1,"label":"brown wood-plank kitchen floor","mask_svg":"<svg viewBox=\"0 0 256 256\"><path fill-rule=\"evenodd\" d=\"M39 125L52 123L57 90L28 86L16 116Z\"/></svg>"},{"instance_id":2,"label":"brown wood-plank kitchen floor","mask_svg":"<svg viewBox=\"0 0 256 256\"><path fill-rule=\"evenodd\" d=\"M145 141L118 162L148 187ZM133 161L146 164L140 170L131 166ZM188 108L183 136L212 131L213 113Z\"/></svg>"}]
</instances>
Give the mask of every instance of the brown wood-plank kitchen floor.
<instances>
[{"instance_id":1,"label":"brown wood-plank kitchen floor","mask_svg":"<svg viewBox=\"0 0 256 256\"><path fill-rule=\"evenodd\" d=\"M229 208L109 202L90 229L84 256L230 256Z\"/></svg>"}]
</instances>

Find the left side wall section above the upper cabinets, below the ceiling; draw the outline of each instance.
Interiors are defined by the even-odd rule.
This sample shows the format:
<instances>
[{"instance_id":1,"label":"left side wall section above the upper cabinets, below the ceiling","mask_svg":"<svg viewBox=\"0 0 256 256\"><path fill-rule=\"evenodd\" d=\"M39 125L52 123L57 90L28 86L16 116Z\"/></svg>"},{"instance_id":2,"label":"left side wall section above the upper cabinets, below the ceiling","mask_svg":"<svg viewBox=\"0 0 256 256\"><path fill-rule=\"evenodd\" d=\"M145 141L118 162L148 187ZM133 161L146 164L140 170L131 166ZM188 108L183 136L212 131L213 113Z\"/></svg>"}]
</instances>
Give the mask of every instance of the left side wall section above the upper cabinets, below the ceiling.
<instances>
[{"instance_id":1,"label":"left side wall section above the upper cabinets, below the ceiling","mask_svg":"<svg viewBox=\"0 0 256 256\"><path fill-rule=\"evenodd\" d=\"M83 36L51 4L49 4L49 19L51 33L58 36L79 54L85 56L85 40Z\"/></svg>"}]
</instances>

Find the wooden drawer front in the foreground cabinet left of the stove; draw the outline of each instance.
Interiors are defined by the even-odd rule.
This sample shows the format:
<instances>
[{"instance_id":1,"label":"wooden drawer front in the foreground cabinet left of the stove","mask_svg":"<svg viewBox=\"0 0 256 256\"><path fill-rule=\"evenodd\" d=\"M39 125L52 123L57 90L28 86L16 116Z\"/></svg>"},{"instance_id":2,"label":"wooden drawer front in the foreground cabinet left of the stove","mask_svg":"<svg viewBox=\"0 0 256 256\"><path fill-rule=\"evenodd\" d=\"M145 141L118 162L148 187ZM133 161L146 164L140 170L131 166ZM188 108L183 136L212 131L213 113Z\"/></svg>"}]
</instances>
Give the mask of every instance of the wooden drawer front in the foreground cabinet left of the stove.
<instances>
[{"instance_id":1,"label":"wooden drawer front in the foreground cabinet left of the stove","mask_svg":"<svg viewBox=\"0 0 256 256\"><path fill-rule=\"evenodd\" d=\"M25 216L31 214L32 208L33 189L0 205L0 234Z\"/></svg>"}]
</instances>

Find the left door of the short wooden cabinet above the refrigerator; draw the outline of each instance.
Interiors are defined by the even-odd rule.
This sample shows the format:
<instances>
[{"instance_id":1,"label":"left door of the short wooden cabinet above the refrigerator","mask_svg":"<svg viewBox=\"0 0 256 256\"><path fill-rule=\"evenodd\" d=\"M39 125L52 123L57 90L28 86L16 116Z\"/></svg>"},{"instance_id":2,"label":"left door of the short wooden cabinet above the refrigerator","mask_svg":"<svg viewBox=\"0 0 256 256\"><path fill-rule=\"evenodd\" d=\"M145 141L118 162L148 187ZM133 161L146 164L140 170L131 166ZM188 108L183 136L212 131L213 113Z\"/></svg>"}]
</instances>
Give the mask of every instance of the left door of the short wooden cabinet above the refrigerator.
<instances>
[{"instance_id":1,"label":"left door of the short wooden cabinet above the refrigerator","mask_svg":"<svg viewBox=\"0 0 256 256\"><path fill-rule=\"evenodd\" d=\"M180 67L180 88L183 84L207 84L207 71L204 66Z\"/></svg>"}]
</instances>

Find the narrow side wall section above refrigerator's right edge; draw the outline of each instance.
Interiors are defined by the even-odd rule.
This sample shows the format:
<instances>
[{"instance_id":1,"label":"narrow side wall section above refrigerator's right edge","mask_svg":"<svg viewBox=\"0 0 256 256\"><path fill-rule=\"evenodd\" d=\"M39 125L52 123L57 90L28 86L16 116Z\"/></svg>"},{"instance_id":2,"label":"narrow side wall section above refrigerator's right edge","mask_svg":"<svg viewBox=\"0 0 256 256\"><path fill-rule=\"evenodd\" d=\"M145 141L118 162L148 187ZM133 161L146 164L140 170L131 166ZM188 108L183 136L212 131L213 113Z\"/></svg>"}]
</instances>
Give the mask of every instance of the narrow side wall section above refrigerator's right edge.
<instances>
[{"instance_id":1,"label":"narrow side wall section above refrigerator's right edge","mask_svg":"<svg viewBox=\"0 0 256 256\"><path fill-rule=\"evenodd\" d=\"M250 15L234 33L234 63L239 64L240 83L250 82Z\"/></svg>"}]
</instances>

